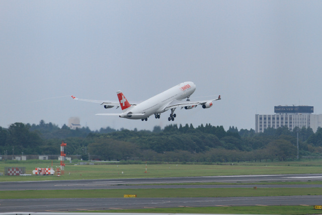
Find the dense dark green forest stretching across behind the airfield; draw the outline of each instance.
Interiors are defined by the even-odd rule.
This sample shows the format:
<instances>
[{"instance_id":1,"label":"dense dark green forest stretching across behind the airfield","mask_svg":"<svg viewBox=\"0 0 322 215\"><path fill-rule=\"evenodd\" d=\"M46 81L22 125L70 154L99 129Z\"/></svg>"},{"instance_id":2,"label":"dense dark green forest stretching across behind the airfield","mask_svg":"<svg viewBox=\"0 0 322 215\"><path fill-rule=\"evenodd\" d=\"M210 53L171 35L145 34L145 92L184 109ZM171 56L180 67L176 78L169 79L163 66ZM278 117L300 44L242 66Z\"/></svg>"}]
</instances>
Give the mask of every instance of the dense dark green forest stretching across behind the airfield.
<instances>
[{"instance_id":1,"label":"dense dark green forest stretching across behind the airfield","mask_svg":"<svg viewBox=\"0 0 322 215\"><path fill-rule=\"evenodd\" d=\"M83 160L160 161L160 162L261 162L319 157L322 154L322 128L268 128L255 130L210 124L171 124L162 129L115 130L110 127L92 131L88 127L61 128L43 120L36 124L16 122L0 127L0 153L8 155L60 155L60 143L67 143L67 156L78 155ZM13 152L14 150L14 152Z\"/></svg>"}]
</instances>

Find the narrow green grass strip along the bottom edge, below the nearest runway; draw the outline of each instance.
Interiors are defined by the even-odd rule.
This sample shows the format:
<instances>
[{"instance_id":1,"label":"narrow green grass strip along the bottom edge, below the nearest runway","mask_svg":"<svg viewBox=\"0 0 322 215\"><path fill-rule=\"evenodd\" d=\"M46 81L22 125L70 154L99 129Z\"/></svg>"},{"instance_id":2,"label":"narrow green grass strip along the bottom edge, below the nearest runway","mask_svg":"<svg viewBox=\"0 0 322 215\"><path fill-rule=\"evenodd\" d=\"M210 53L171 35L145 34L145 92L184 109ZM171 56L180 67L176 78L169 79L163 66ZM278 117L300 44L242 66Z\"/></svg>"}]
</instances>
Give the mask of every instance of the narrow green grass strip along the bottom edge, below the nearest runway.
<instances>
[{"instance_id":1,"label":"narrow green grass strip along the bottom edge, below the nearest runway","mask_svg":"<svg viewBox=\"0 0 322 215\"><path fill-rule=\"evenodd\" d=\"M79 211L77 211L79 212ZM89 212L89 211L84 211ZM126 212L126 213L208 213L208 214L316 214L322 210L313 206L233 206L233 207L172 207L143 208L122 210L99 210L90 212Z\"/></svg>"}]
</instances>

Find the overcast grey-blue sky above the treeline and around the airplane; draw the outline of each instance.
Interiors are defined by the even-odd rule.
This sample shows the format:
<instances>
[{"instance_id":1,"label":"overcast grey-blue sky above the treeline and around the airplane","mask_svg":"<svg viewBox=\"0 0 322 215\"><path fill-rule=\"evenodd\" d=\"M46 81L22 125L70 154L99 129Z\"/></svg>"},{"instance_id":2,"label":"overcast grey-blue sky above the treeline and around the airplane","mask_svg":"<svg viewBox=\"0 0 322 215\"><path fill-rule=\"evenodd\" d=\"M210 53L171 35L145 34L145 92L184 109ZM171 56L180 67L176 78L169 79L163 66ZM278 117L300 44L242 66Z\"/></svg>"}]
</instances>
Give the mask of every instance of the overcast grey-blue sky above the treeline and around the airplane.
<instances>
[{"instance_id":1,"label":"overcast grey-blue sky above the treeline and around the airplane","mask_svg":"<svg viewBox=\"0 0 322 215\"><path fill-rule=\"evenodd\" d=\"M181 82L209 109L174 123L255 129L277 105L322 113L322 1L0 1L0 126L79 117L90 129L153 129L73 101L143 101Z\"/></svg>"}]
</instances>

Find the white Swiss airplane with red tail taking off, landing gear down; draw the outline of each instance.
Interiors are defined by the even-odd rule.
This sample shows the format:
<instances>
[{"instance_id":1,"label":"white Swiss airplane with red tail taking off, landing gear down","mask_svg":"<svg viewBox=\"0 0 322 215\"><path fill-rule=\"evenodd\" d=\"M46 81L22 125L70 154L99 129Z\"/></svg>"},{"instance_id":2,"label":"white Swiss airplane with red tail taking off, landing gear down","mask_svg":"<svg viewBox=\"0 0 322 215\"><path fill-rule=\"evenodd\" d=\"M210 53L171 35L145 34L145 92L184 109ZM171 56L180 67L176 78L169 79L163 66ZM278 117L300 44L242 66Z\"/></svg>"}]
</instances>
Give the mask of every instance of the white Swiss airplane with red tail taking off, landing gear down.
<instances>
[{"instance_id":1,"label":"white Swiss airplane with red tail taking off, landing gear down","mask_svg":"<svg viewBox=\"0 0 322 215\"><path fill-rule=\"evenodd\" d=\"M78 99L71 96L74 100L94 102L104 105L104 108L116 108L121 107L122 113L99 113L96 115L106 116L119 116L127 119L141 119L147 121L147 118L154 114L156 119L160 118L160 114L171 110L169 121L174 121L177 116L174 112L176 108L181 109L192 109L201 105L202 108L210 108L213 105L213 101L220 100L218 98L203 100L203 101L190 101L190 96L195 92L196 85L193 82L183 82L169 90L166 90L152 98L149 98L141 103L130 103L121 91L117 91L117 97L119 101L101 101L101 100L89 100L89 99ZM187 99L187 100L184 100Z\"/></svg>"}]
</instances>

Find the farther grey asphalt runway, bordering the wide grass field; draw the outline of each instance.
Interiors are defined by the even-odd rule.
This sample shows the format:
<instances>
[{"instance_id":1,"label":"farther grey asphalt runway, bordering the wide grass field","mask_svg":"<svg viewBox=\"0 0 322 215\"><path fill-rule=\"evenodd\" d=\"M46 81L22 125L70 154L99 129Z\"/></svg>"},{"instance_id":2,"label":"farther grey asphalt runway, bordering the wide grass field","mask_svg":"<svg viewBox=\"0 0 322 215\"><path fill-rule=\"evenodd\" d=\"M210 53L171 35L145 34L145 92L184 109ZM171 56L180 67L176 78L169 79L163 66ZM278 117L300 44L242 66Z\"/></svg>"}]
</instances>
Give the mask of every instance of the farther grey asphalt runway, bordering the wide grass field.
<instances>
[{"instance_id":1,"label":"farther grey asphalt runway, bordering the wide grass field","mask_svg":"<svg viewBox=\"0 0 322 215\"><path fill-rule=\"evenodd\" d=\"M46 176L39 176L46 177ZM98 180L0 182L0 190L143 189L143 188L229 188L252 187L256 182L320 181L322 174L237 175L177 178L133 178ZM240 183L240 185L176 185L178 183ZM243 185L252 183L252 185ZM153 185L151 185L153 184ZM162 185L161 185L162 184ZM128 186L135 185L135 186ZM259 185L258 185L259 186ZM262 187L322 187L322 185L261 185Z\"/></svg>"}]
</instances>

